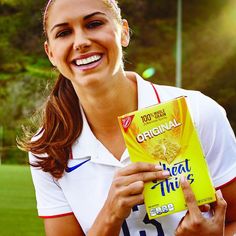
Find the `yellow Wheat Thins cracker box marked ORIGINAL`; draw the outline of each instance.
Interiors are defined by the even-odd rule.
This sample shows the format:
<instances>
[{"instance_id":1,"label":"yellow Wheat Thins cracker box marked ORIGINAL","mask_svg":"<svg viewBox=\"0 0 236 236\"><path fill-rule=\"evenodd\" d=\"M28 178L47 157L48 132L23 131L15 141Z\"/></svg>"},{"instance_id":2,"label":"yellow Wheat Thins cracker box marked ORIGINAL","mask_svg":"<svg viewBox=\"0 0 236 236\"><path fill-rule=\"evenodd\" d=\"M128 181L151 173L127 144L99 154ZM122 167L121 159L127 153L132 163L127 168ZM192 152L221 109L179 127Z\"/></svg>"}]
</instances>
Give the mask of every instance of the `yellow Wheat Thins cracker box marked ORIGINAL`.
<instances>
[{"instance_id":1,"label":"yellow Wheat Thins cracker box marked ORIGINAL","mask_svg":"<svg viewBox=\"0 0 236 236\"><path fill-rule=\"evenodd\" d=\"M170 172L164 181L144 186L144 202L150 219L187 208L180 176L186 176L198 205L215 201L201 143L185 97L118 117L132 162L160 164Z\"/></svg>"}]
</instances>

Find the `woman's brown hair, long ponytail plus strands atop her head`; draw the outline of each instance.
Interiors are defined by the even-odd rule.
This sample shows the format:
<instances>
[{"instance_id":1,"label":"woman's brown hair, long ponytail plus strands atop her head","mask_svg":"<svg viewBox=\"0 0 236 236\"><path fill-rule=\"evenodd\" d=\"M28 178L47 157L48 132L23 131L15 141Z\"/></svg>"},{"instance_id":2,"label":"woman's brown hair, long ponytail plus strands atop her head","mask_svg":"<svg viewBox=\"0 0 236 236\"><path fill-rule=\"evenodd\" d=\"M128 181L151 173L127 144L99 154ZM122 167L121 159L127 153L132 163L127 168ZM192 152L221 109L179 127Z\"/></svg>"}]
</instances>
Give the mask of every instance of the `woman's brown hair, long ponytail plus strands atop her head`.
<instances>
[{"instance_id":1,"label":"woman's brown hair, long ponytail plus strands atop her head","mask_svg":"<svg viewBox=\"0 0 236 236\"><path fill-rule=\"evenodd\" d=\"M115 0L103 0L116 16L120 11ZM46 40L47 19L50 7L55 0L49 0L43 14L43 29ZM121 19L121 18L120 18ZM70 80L63 75L58 79L40 111L40 131L35 135L25 130L24 138L18 139L18 146L24 151L31 152L37 157L33 167L39 167L51 173L55 178L61 178L71 154L71 147L81 134L83 120L78 96ZM47 155L42 157L42 155Z\"/></svg>"}]
</instances>

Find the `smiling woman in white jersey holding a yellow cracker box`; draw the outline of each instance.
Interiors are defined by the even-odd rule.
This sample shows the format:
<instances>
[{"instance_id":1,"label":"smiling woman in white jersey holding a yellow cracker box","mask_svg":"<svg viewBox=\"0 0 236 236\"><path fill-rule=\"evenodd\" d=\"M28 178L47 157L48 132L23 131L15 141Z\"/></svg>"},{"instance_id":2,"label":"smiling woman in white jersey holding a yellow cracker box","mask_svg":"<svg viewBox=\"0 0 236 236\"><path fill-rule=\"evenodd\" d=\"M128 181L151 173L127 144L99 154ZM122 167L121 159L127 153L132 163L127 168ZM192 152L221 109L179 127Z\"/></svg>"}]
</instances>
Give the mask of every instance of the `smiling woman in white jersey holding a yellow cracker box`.
<instances>
[{"instance_id":1,"label":"smiling woman in white jersey holding a yellow cracker box","mask_svg":"<svg viewBox=\"0 0 236 236\"><path fill-rule=\"evenodd\" d=\"M44 30L45 51L60 76L42 128L24 148L30 151L46 235L233 235L236 145L223 109L198 92L152 86L125 72L122 47L129 44L129 26L114 0L49 1ZM187 96L215 187L225 200L217 192L215 204L201 207L213 211L205 218L183 178L189 211L150 221L143 185L169 173L152 164L130 164L117 116L180 95Z\"/></svg>"}]
</instances>

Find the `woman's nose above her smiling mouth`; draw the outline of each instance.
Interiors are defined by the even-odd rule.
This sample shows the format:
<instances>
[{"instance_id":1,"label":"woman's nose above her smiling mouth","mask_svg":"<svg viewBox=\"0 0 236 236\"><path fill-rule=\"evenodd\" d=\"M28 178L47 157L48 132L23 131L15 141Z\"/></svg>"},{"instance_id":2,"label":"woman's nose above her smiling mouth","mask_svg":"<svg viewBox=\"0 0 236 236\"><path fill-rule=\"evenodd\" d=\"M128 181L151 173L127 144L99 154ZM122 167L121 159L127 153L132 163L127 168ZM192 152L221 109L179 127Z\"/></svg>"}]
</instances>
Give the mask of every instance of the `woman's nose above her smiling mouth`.
<instances>
[{"instance_id":1,"label":"woman's nose above her smiling mouth","mask_svg":"<svg viewBox=\"0 0 236 236\"><path fill-rule=\"evenodd\" d=\"M83 52L86 51L90 45L91 40L89 39L88 35L82 30L77 30L73 45L74 50Z\"/></svg>"}]
</instances>

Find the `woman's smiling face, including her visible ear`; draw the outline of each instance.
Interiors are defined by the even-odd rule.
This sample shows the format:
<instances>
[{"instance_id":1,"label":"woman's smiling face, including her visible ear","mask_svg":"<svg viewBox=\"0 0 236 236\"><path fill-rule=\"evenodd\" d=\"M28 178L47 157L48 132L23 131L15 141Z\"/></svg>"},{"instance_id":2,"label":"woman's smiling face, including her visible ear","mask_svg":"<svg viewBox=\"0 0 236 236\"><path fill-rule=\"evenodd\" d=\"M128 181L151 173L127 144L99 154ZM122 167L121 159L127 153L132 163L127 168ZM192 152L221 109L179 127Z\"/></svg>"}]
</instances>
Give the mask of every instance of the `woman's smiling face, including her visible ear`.
<instances>
[{"instance_id":1,"label":"woman's smiling face, including her visible ear","mask_svg":"<svg viewBox=\"0 0 236 236\"><path fill-rule=\"evenodd\" d=\"M47 13L46 53L73 84L88 85L122 70L128 23L103 0L56 0Z\"/></svg>"}]
</instances>

